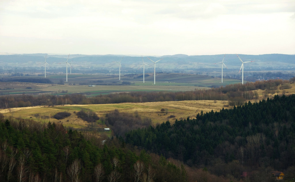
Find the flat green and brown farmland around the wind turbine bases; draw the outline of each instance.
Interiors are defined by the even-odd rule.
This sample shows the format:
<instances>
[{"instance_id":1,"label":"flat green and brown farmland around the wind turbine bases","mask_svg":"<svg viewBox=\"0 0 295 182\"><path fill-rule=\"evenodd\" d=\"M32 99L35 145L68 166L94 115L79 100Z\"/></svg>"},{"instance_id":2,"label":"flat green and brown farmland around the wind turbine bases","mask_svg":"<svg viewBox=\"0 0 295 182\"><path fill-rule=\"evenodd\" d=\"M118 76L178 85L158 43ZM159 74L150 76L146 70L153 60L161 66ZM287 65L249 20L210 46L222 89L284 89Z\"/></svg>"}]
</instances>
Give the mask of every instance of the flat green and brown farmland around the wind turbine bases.
<instances>
[{"instance_id":1,"label":"flat green and brown farmland around the wind turbine bases","mask_svg":"<svg viewBox=\"0 0 295 182\"><path fill-rule=\"evenodd\" d=\"M153 75L146 77L145 83L142 81L143 78L138 75L122 75L121 80L118 80L117 77L109 75L72 74L68 75L68 82L64 82L65 75L49 75L46 78L59 84L0 82L0 95L66 95L81 93L86 95L86 97L91 97L117 92L191 91L195 89L208 89L212 86L225 86L239 82L239 80L224 79L224 82L221 83L220 78L192 74L161 73L156 76L156 83L154 85ZM38 76L38 78L42 77ZM124 84L124 82L129 84ZM95 87L89 87L88 85L95 85Z\"/></svg>"}]
</instances>

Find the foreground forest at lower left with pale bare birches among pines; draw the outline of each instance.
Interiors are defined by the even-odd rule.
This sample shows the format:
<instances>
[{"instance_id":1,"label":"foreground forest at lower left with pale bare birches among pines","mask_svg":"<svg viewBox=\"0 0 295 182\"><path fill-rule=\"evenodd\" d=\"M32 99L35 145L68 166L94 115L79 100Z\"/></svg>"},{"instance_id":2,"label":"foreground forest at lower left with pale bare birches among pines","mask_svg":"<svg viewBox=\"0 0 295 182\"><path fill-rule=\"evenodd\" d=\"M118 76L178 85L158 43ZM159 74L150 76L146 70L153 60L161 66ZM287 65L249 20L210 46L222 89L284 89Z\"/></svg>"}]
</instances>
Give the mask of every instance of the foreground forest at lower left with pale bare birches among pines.
<instances>
[{"instance_id":1,"label":"foreground forest at lower left with pale bare birches among pines","mask_svg":"<svg viewBox=\"0 0 295 182\"><path fill-rule=\"evenodd\" d=\"M0 181L187 181L185 167L135 150L122 138L101 143L93 133L59 123L0 116ZM132 150L130 150L132 149ZM207 174L208 175L208 174Z\"/></svg>"}]
</instances>

